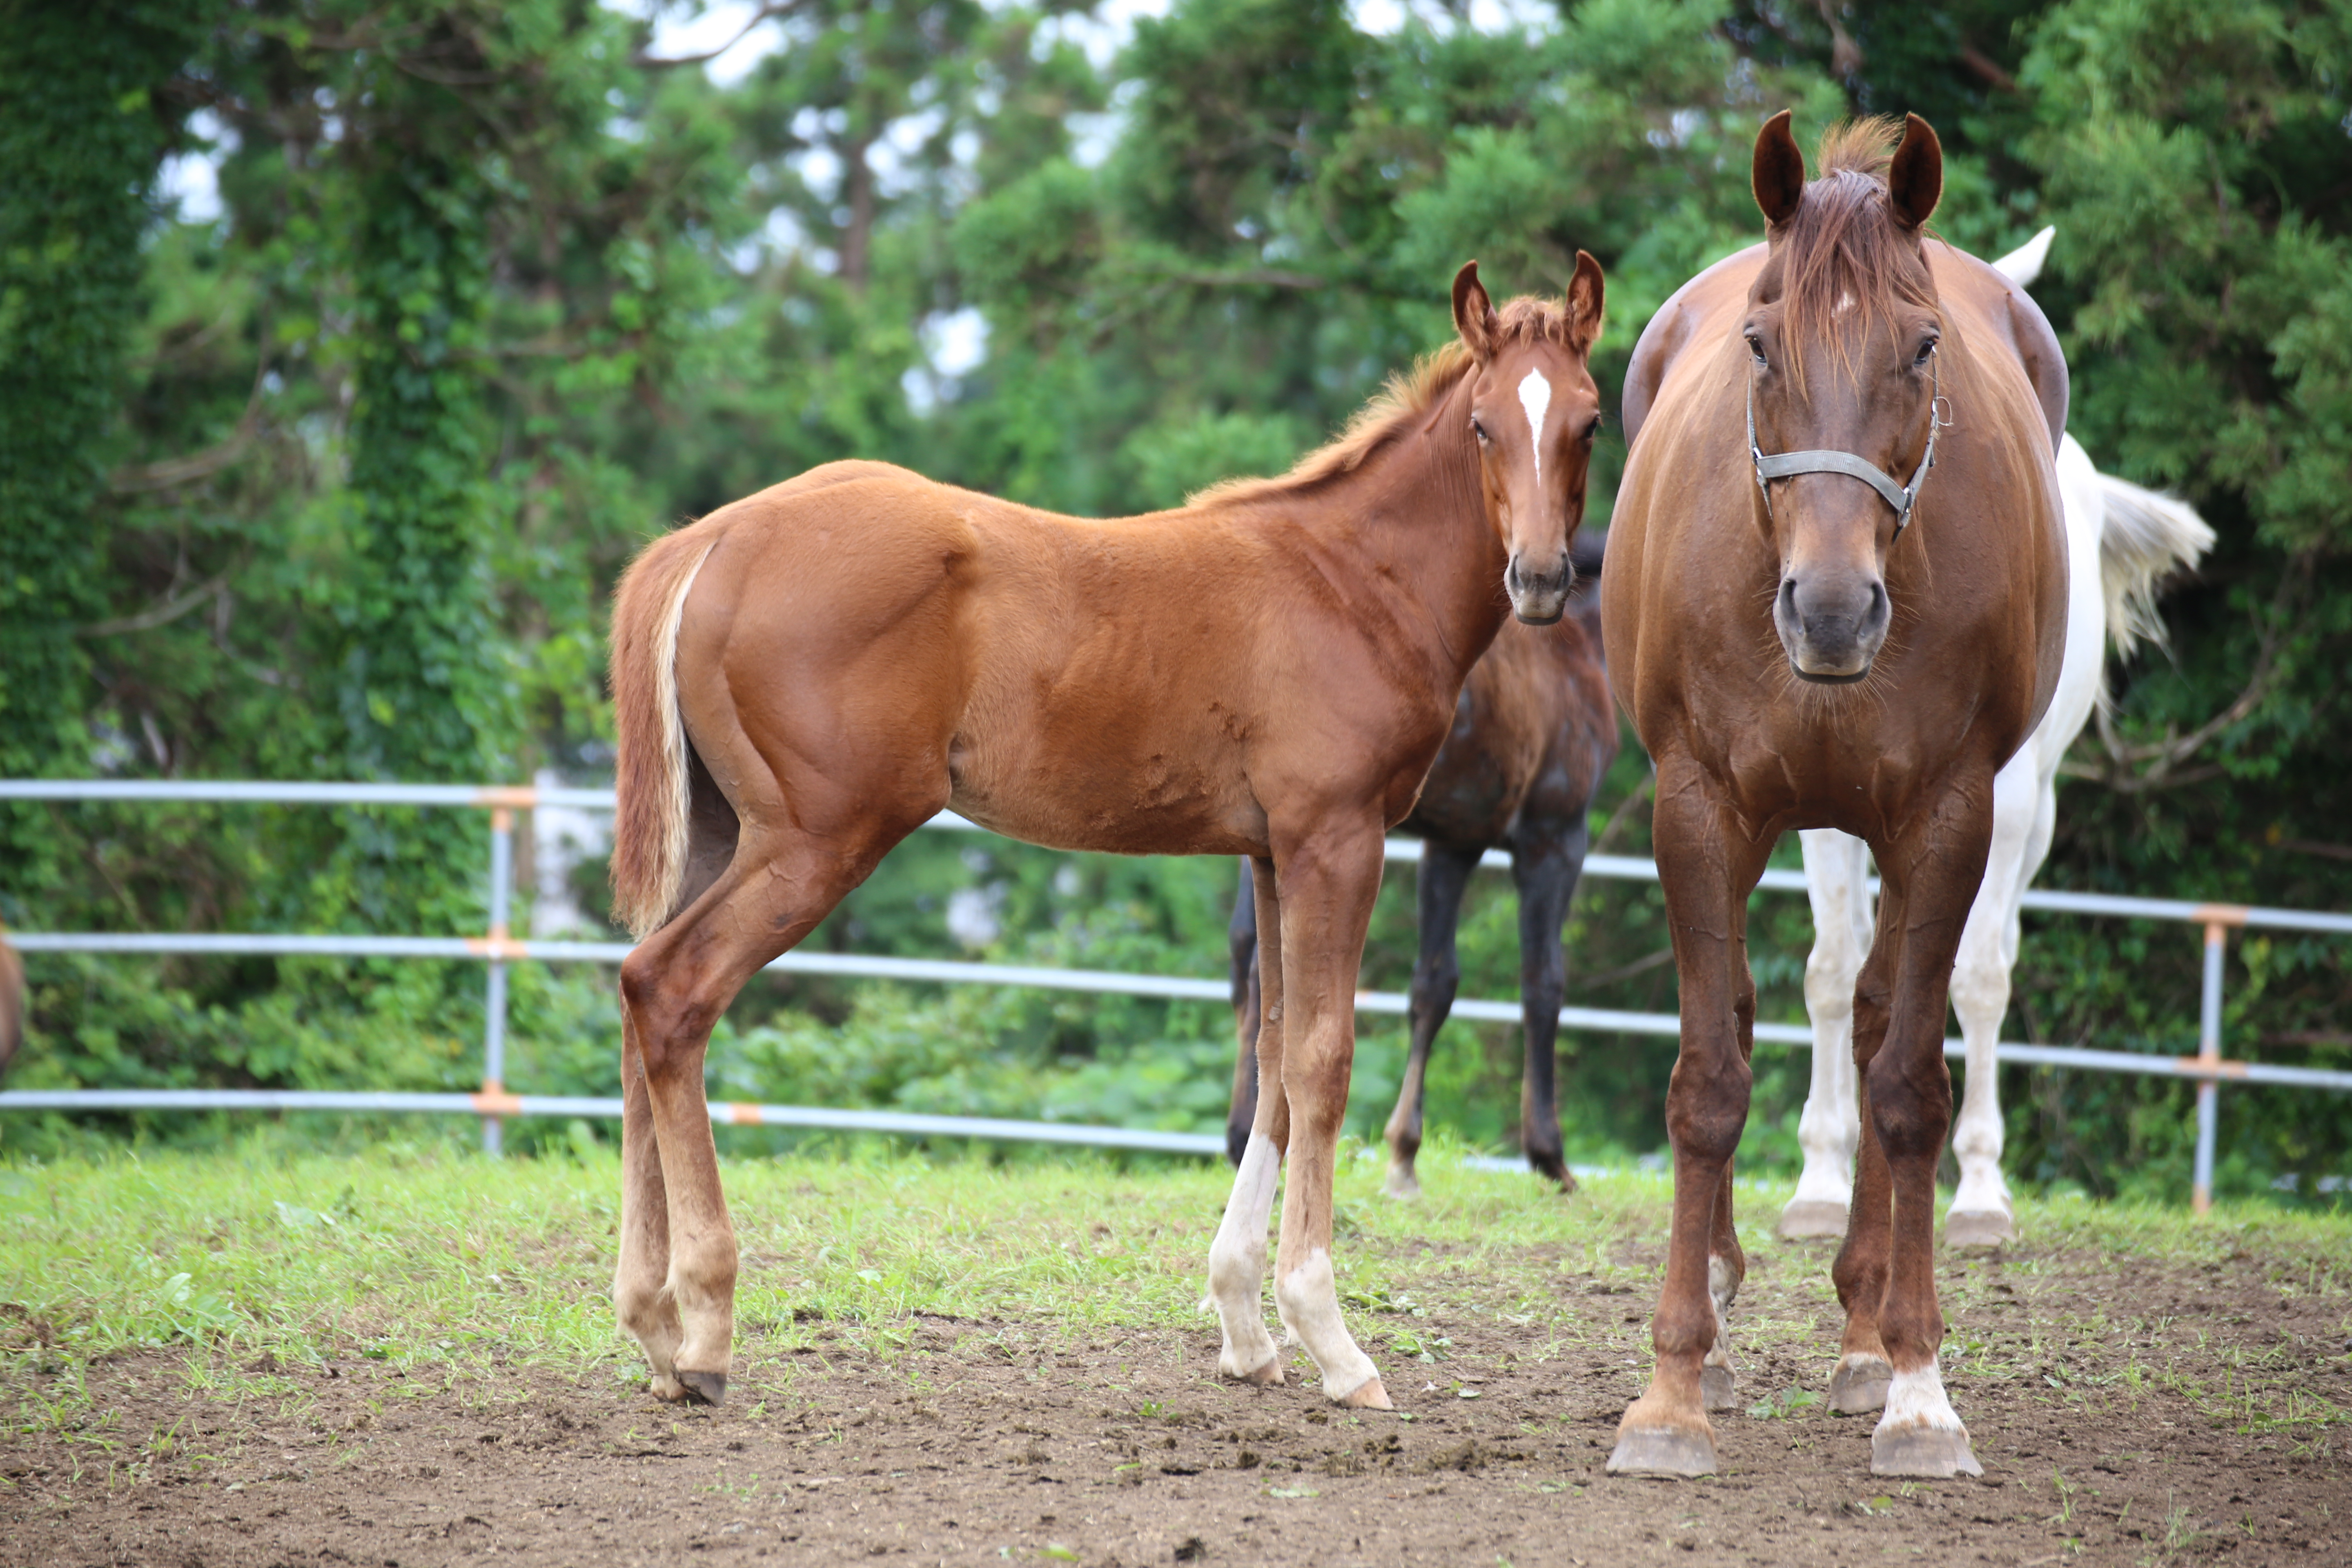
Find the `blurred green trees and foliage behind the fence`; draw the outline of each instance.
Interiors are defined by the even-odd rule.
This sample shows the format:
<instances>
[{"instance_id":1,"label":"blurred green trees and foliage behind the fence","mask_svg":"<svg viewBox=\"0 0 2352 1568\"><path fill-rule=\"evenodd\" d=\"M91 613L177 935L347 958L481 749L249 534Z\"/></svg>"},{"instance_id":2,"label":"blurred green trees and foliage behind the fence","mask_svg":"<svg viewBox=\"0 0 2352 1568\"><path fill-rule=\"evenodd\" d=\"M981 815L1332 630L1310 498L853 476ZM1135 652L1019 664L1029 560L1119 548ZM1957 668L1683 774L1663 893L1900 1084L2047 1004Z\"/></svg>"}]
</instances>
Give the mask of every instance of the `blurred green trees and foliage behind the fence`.
<instances>
[{"instance_id":1,"label":"blurred green trees and foliage behind the fence","mask_svg":"<svg viewBox=\"0 0 2352 1568\"><path fill-rule=\"evenodd\" d=\"M1764 115L1912 108L1945 139L1947 237L2058 226L2037 294L2074 433L2220 531L2171 649L2114 672L2044 882L2347 907L2347 0L9 7L0 769L595 780L604 602L677 520L842 456L1174 505L1279 470L1439 343L1468 256L1505 294L1595 252L1613 400L1651 310L1757 235ZM1604 437L1592 527L1621 465ZM1628 738L1604 849L1646 849L1642 788ZM477 931L485 875L466 813L0 806L26 929ZM1216 973L1230 891L1223 863L917 835L811 940ZM1809 936L1802 900L1759 898L1764 1016L1802 1020ZM1571 999L1672 1009L1656 889L1585 884L1566 943ZM1402 990L1411 952L1395 877L1367 985ZM2192 1051L2197 957L2180 926L2027 919L2009 1034ZM475 966L31 971L24 1084L480 1074ZM1501 877L1463 971L1468 997L1515 985ZM2239 943L2230 1051L2345 1065L2347 973L2343 943ZM609 973L522 966L515 1037L513 1084L609 1093ZM729 1098L1214 1128L1228 1041L1218 1006L762 978L710 1072ZM1663 1143L1663 1041L1562 1053L1573 1159ZM1367 1018L1359 1131L1399 1058ZM2185 1086L2009 1074L2016 1178L2185 1190ZM1515 1079L1515 1032L1449 1025L1432 1117L1501 1147ZM1802 1053L1766 1048L1745 1161L1788 1166L1802 1093ZM122 1131L19 1117L0 1143ZM2343 1098L2223 1095L2225 1187L2310 1192L2347 1147Z\"/></svg>"}]
</instances>

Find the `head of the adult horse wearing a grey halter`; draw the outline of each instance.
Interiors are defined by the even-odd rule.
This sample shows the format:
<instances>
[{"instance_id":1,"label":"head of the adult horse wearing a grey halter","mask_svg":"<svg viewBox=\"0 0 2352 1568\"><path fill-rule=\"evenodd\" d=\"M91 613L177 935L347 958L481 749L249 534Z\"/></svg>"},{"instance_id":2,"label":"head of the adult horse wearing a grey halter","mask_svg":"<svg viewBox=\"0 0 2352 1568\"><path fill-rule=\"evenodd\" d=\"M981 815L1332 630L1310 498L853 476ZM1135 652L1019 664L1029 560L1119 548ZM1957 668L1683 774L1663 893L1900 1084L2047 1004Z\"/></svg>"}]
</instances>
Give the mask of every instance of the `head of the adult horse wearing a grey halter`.
<instances>
[{"instance_id":1,"label":"head of the adult horse wearing a grey halter","mask_svg":"<svg viewBox=\"0 0 2352 1568\"><path fill-rule=\"evenodd\" d=\"M1748 292L1755 517L1780 555L1773 630L1809 682L1858 682L1886 642L1886 555L1936 454L1943 310L1919 233L1943 148L1919 115L1832 132L1806 181L1788 110L1764 122L1755 195L1769 256Z\"/></svg>"}]
</instances>

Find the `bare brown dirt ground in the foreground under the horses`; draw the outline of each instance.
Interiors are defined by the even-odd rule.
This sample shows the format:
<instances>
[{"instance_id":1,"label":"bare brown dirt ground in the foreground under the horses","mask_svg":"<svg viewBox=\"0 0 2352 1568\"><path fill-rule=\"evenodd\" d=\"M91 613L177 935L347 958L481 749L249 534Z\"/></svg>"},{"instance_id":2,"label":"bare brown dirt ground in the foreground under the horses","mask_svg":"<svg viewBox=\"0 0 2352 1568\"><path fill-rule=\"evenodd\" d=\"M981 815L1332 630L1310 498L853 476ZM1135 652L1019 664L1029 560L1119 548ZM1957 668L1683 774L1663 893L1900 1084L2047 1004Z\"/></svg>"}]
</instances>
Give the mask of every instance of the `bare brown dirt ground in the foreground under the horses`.
<instances>
[{"instance_id":1,"label":"bare brown dirt ground in the foreground under the horses","mask_svg":"<svg viewBox=\"0 0 2352 1568\"><path fill-rule=\"evenodd\" d=\"M143 1352L87 1368L115 1453L0 1439L0 1563L2352 1563L2340 1293L2244 1253L2122 1281L2093 1255L1947 1258L1985 1479L1896 1483L1870 1476L1867 1420L1802 1394L1835 1347L1825 1265L1755 1258L1733 1333L1766 1413L1717 1418L1710 1481L1602 1474L1651 1300L1562 1272L1581 1342L1411 1319L1451 1340L1423 1363L1355 1312L1406 1418L1296 1375L1221 1385L1209 1319L1094 1345L1044 1319L753 1324L722 1410L656 1406L609 1363L254 1366L294 1394L235 1399Z\"/></svg>"}]
</instances>

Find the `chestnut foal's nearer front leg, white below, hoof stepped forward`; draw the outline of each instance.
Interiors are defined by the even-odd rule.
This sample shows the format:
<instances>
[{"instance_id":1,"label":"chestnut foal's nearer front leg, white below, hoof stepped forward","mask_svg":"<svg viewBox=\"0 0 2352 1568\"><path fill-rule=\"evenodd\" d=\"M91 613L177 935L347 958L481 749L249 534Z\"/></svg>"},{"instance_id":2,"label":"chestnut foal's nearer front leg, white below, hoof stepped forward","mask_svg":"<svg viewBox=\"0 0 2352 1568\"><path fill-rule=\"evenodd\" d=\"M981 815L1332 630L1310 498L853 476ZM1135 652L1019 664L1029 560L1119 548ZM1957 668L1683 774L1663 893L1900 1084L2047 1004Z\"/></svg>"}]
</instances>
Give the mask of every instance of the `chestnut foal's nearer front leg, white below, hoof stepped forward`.
<instances>
[{"instance_id":1,"label":"chestnut foal's nearer front leg, white below, hoof stepped forward","mask_svg":"<svg viewBox=\"0 0 2352 1568\"><path fill-rule=\"evenodd\" d=\"M1381 893L1381 820L1322 827L1282 856L1282 1095L1291 1107L1291 1185L1275 1251L1275 1307L1343 1406L1388 1410L1388 1389L1338 1312L1331 1204L1355 1065L1355 976ZM1272 1088L1272 1079L1268 1079Z\"/></svg>"}]
</instances>

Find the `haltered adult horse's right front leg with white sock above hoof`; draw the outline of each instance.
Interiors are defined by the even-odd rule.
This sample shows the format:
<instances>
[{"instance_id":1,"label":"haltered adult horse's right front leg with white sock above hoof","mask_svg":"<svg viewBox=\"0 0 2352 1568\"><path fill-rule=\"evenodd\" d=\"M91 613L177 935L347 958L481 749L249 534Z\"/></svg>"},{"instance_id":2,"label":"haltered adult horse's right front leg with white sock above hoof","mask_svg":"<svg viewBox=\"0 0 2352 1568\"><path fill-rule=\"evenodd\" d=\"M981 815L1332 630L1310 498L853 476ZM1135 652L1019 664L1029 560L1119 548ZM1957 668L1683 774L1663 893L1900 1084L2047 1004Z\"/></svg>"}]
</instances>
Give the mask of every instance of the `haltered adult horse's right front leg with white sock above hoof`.
<instances>
[{"instance_id":1,"label":"haltered adult horse's right front leg with white sock above hoof","mask_svg":"<svg viewBox=\"0 0 2352 1568\"><path fill-rule=\"evenodd\" d=\"M1893 1375L1886 1413L1870 1434L1870 1469L1882 1476L1983 1474L1969 1429L1943 1392L1936 1359L1943 1345L1936 1159L1952 1131L1952 1074L1943 1065L1945 997L1952 954L1985 875L1990 783L1955 783L1912 832L1879 849L1879 870L1896 905L1896 922L1882 924L1898 924L1903 933L1886 1041L1863 1067L1870 1128L1893 1187L1886 1295L1879 1305L1879 1340Z\"/></svg>"}]
</instances>

